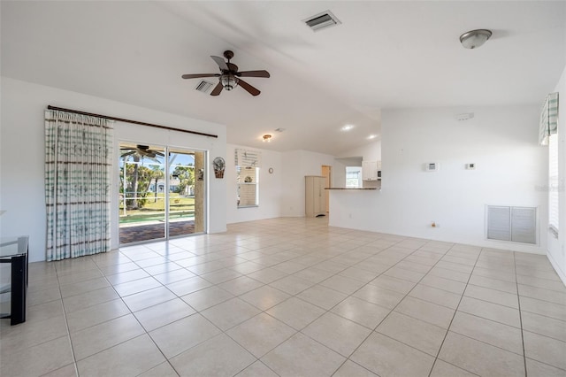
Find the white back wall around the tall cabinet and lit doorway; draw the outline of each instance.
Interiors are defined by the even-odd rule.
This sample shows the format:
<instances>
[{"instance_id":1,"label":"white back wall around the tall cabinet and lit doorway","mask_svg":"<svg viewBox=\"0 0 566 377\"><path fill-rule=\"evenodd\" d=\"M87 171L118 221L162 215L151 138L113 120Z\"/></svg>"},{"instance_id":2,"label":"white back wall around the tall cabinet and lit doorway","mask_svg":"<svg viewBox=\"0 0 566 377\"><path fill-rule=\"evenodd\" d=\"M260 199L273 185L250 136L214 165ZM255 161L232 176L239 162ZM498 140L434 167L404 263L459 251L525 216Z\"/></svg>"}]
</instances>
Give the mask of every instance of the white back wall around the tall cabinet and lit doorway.
<instances>
[{"instance_id":1,"label":"white back wall around the tall cabinet and lit doorway","mask_svg":"<svg viewBox=\"0 0 566 377\"><path fill-rule=\"evenodd\" d=\"M321 175L322 165L332 166L332 186L344 187L346 165L336 161L333 156L309 150L289 150L282 153L283 158L283 200L281 216L304 216L304 177L305 175Z\"/></svg>"}]
</instances>

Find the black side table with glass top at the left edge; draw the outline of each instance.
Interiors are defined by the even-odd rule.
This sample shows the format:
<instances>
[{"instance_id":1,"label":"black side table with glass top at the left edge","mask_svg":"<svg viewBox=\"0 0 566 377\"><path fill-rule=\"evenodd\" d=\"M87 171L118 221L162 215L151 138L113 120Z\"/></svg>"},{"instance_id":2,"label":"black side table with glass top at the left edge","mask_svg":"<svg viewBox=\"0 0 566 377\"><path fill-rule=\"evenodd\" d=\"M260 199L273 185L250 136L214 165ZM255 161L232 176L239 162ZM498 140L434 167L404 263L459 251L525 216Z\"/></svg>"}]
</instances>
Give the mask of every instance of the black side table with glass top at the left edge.
<instances>
[{"instance_id":1,"label":"black side table with glass top at the left edge","mask_svg":"<svg viewBox=\"0 0 566 377\"><path fill-rule=\"evenodd\" d=\"M12 326L26 321L28 241L27 235L0 238L0 263L11 264L11 284L0 289L0 293L11 293L10 313L0 318L9 318Z\"/></svg>"}]
</instances>

